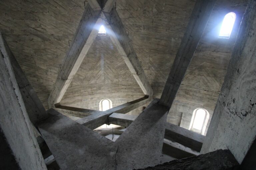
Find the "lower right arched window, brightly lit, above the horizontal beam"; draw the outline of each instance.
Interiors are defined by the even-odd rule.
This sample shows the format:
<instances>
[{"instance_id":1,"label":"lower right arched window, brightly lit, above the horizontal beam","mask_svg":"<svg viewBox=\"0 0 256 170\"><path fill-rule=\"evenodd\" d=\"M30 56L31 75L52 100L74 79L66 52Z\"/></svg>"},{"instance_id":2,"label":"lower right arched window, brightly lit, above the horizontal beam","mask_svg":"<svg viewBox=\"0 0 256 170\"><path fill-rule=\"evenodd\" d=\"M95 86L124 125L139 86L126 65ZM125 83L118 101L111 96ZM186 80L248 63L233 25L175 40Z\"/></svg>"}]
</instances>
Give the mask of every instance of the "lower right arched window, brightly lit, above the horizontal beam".
<instances>
[{"instance_id":1,"label":"lower right arched window, brightly lit, above the horizontal beam","mask_svg":"<svg viewBox=\"0 0 256 170\"><path fill-rule=\"evenodd\" d=\"M209 112L205 109L195 109L190 122L189 130L203 134L205 133L209 120Z\"/></svg>"}]
</instances>

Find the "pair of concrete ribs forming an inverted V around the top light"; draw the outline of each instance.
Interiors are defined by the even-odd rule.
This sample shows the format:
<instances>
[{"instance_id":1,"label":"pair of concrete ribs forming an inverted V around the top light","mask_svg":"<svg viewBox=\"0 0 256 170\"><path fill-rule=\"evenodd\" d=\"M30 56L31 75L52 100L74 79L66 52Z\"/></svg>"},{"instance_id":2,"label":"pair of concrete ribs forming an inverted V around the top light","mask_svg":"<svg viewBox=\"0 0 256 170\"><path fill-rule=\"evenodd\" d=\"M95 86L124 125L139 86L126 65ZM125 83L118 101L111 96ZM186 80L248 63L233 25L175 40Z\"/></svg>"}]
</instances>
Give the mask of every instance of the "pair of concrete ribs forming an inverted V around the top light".
<instances>
[{"instance_id":1,"label":"pair of concrete ribs forming an inverted V around the top light","mask_svg":"<svg viewBox=\"0 0 256 170\"><path fill-rule=\"evenodd\" d=\"M103 1L100 0L99 2L103 4ZM55 104L60 103L74 75L80 67L82 60L86 56L89 48L98 35L98 28L103 22L102 19L105 19L104 15L109 14L109 11L113 11L114 3L115 0L108 0L105 3L105 6L101 7L97 0L88 1L80 24L75 33L75 37L66 54L63 66L57 76L52 92L48 98L49 108L52 108ZM116 34L112 31L113 34L110 34L113 35L110 36L111 40L117 45L119 52L125 60L125 63L132 72L144 94L152 98L153 90L149 85L148 79L141 67L132 44L126 35L124 26L122 25L122 22L115 9L114 13L111 12L111 14L114 15L108 16L111 16L112 18L114 17L117 19L117 21L114 25L113 22L110 22L110 27L117 29L118 32L118 34Z\"/></svg>"}]
</instances>

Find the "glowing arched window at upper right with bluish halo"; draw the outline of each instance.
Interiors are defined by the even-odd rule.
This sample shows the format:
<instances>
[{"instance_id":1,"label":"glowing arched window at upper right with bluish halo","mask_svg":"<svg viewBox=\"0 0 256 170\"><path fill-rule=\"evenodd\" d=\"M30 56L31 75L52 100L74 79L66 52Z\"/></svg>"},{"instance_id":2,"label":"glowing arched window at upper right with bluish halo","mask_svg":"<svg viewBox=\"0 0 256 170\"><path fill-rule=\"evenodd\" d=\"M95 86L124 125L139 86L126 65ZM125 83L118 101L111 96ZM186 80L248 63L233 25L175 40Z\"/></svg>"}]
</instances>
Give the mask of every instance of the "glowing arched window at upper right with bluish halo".
<instances>
[{"instance_id":1,"label":"glowing arched window at upper right with bluish halo","mask_svg":"<svg viewBox=\"0 0 256 170\"><path fill-rule=\"evenodd\" d=\"M219 38L226 38L229 39L234 23L236 20L236 14L233 12L228 13L227 15L225 15L223 22L222 22L222 26L220 29L220 34L219 34Z\"/></svg>"}]
</instances>

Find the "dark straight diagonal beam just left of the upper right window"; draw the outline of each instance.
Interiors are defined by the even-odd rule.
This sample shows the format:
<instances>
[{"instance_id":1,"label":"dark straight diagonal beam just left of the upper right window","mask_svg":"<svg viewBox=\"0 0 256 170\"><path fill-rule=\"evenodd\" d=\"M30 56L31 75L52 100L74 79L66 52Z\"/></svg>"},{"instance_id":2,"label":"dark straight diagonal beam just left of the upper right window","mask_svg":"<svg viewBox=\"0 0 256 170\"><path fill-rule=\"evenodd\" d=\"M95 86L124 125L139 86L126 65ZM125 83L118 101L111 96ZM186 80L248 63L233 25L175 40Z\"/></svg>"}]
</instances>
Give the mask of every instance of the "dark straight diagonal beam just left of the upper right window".
<instances>
[{"instance_id":1,"label":"dark straight diagonal beam just left of the upper right window","mask_svg":"<svg viewBox=\"0 0 256 170\"><path fill-rule=\"evenodd\" d=\"M197 0L181 40L159 104L171 107L189 63L202 37L216 0Z\"/></svg>"}]
</instances>

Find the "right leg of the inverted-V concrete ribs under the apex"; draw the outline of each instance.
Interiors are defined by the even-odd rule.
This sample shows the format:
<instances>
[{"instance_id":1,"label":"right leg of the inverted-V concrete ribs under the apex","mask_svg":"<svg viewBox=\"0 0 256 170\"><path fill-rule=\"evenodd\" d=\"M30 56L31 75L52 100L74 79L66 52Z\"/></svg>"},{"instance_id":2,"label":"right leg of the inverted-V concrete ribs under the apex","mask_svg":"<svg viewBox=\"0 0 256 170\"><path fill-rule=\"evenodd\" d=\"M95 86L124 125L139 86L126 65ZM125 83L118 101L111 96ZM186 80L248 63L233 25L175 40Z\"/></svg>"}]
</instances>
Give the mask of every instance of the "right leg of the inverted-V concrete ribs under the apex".
<instances>
[{"instance_id":1,"label":"right leg of the inverted-V concrete ribs under the apex","mask_svg":"<svg viewBox=\"0 0 256 170\"><path fill-rule=\"evenodd\" d=\"M132 42L127 36L126 30L117 14L116 9L112 7L110 12L103 11L103 13L106 17L106 28L110 39L117 47L117 50L123 57L127 67L131 71L143 93L149 97L152 97L153 90L148 82L148 78L145 75L144 70L141 67L141 63L133 49Z\"/></svg>"}]
</instances>

